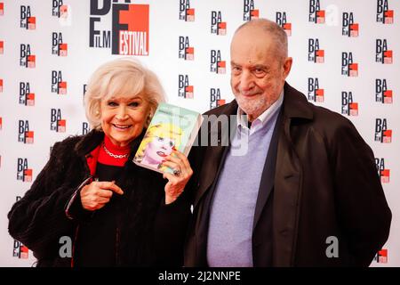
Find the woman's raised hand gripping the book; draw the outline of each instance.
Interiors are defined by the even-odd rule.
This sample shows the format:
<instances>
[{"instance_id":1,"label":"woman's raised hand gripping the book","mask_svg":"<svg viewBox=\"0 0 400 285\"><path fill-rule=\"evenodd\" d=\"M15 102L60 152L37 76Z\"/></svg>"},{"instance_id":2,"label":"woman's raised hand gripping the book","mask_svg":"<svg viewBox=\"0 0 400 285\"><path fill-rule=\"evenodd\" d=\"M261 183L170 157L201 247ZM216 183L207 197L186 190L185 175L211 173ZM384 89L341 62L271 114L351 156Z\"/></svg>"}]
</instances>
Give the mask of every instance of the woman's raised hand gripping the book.
<instances>
[{"instance_id":1,"label":"woman's raised hand gripping the book","mask_svg":"<svg viewBox=\"0 0 400 285\"><path fill-rule=\"evenodd\" d=\"M171 155L165 158L163 166L171 167L175 175L164 173L163 177L168 179L165 184L165 204L171 204L185 189L193 170L190 167L188 158L180 151L172 151Z\"/></svg>"}]
</instances>

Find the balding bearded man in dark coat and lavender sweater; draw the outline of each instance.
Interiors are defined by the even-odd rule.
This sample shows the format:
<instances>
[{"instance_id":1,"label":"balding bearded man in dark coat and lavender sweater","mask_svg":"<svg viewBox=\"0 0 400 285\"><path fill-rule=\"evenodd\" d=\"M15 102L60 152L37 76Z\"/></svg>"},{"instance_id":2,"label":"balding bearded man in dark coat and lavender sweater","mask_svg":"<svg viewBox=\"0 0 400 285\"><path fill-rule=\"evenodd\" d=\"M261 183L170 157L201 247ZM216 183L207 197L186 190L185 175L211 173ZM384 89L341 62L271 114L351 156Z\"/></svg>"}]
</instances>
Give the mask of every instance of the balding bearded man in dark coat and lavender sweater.
<instances>
[{"instance_id":1,"label":"balding bearded man in dark coat and lavender sweater","mask_svg":"<svg viewBox=\"0 0 400 285\"><path fill-rule=\"evenodd\" d=\"M370 265L391 221L371 148L285 82L292 58L275 22L244 23L230 53L236 100L206 113L217 131L200 142L220 144L195 149L185 265ZM236 119L216 127L223 116Z\"/></svg>"}]
</instances>

